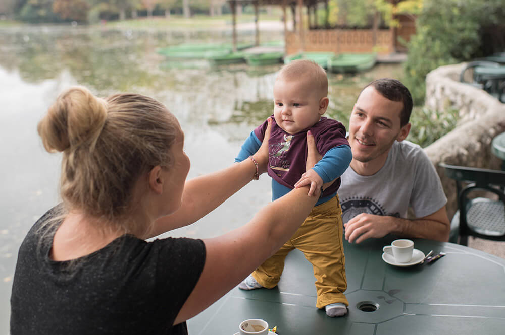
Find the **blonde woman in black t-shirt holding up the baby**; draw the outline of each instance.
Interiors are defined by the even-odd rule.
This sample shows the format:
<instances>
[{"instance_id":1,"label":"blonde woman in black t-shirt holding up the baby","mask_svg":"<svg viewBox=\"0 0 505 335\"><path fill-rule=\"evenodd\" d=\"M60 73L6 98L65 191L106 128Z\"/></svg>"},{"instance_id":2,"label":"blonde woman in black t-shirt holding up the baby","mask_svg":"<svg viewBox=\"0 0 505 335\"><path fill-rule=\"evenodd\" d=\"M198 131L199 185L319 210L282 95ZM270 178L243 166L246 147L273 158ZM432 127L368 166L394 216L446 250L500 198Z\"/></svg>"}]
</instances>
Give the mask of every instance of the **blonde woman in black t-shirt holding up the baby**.
<instances>
[{"instance_id":1,"label":"blonde woman in black t-shirt holding up the baby","mask_svg":"<svg viewBox=\"0 0 505 335\"><path fill-rule=\"evenodd\" d=\"M38 132L48 152L63 153L63 201L20 247L12 335L187 334L185 321L275 253L319 197L297 188L222 236L148 242L258 179L268 141L243 162L186 181L184 133L163 104L138 94L102 99L83 87L62 93Z\"/></svg>"}]
</instances>

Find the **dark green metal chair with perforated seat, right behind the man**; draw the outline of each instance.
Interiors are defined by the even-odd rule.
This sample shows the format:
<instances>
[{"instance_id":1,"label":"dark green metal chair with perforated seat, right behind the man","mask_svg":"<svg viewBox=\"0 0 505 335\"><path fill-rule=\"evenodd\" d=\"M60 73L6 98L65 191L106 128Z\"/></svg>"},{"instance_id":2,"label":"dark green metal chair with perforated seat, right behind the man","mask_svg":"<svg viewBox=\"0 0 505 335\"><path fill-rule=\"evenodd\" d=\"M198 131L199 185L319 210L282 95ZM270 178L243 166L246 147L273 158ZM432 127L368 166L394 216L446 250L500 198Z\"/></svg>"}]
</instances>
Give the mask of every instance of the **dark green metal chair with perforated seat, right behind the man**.
<instances>
[{"instance_id":1,"label":"dark green metal chair with perforated seat, right behind the man","mask_svg":"<svg viewBox=\"0 0 505 335\"><path fill-rule=\"evenodd\" d=\"M452 218L450 242L467 245L468 236L505 241L505 171L440 163L456 181L458 211Z\"/></svg>"}]
</instances>

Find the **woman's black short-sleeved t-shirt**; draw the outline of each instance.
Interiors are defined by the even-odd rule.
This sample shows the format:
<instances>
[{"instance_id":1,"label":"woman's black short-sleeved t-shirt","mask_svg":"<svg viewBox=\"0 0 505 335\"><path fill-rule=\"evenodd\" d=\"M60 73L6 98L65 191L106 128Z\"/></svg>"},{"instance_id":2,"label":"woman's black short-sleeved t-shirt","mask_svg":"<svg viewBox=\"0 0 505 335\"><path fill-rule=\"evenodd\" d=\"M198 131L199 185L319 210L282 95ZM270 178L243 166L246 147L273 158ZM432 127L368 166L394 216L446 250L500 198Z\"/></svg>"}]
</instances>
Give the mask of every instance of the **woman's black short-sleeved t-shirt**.
<instances>
[{"instance_id":1,"label":"woman's black short-sleeved t-shirt","mask_svg":"<svg viewBox=\"0 0 505 335\"><path fill-rule=\"evenodd\" d=\"M55 229L43 224L56 212L44 214L21 244L12 335L187 334L186 322L173 322L203 270L203 241L124 235L71 262L53 261Z\"/></svg>"}]
</instances>

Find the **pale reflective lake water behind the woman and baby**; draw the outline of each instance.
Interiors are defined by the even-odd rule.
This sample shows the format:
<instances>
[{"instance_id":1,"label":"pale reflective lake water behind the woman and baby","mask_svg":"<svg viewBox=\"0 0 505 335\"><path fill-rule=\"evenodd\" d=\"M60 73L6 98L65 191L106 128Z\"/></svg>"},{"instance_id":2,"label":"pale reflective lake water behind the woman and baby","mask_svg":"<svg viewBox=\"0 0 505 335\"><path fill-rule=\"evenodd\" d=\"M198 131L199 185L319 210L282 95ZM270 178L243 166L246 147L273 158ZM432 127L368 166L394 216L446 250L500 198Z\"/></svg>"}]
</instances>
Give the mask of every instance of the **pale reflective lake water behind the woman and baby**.
<instances>
[{"instance_id":1,"label":"pale reflective lake water behind the woman and baby","mask_svg":"<svg viewBox=\"0 0 505 335\"><path fill-rule=\"evenodd\" d=\"M282 40L266 31L261 41ZM0 335L9 333L10 294L19 245L47 209L58 203L59 155L44 151L36 125L58 94L84 85L99 96L137 92L163 102L185 132L188 178L232 164L252 128L273 110L272 88L281 64L249 68L175 69L156 49L190 42L230 42L230 31L131 31L80 27L0 29ZM239 40L254 41L252 31ZM182 64L179 64L182 65ZM361 88L380 77L398 77L401 65L379 64L357 76L329 74L328 115L347 126ZM210 237L247 222L270 200L263 176L173 236Z\"/></svg>"}]
</instances>

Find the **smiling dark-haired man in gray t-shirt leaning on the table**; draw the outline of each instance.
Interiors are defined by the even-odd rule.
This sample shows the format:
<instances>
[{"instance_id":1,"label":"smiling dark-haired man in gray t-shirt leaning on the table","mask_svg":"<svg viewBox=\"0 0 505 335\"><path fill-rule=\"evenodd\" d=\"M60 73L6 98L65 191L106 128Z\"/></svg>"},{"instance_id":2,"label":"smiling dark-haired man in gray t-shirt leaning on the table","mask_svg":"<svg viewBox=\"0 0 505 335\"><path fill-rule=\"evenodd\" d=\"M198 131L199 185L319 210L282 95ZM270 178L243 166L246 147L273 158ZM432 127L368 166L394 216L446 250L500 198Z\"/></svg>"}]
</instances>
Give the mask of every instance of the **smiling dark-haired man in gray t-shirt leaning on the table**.
<instances>
[{"instance_id":1,"label":"smiling dark-haired man in gray t-shirt leaning on the table","mask_svg":"<svg viewBox=\"0 0 505 335\"><path fill-rule=\"evenodd\" d=\"M447 241L447 198L431 161L409 135L409 90L378 79L358 96L349 119L352 161L338 190L345 238L360 243L392 233ZM415 219L407 219L409 207Z\"/></svg>"}]
</instances>

